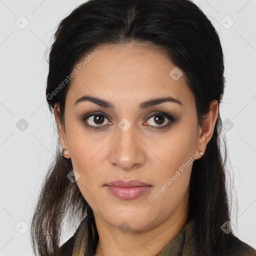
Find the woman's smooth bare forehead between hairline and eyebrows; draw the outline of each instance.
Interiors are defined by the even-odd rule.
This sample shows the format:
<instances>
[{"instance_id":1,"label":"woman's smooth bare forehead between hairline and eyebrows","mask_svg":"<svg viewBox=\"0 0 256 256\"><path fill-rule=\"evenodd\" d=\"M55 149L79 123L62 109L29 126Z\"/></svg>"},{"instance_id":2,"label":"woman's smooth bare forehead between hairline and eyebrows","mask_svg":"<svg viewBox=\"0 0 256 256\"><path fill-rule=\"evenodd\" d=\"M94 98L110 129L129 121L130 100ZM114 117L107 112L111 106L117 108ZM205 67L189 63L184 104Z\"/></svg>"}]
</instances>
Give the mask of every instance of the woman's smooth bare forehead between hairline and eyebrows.
<instances>
[{"instance_id":1,"label":"woman's smooth bare forehead between hairline and eyebrows","mask_svg":"<svg viewBox=\"0 0 256 256\"><path fill-rule=\"evenodd\" d=\"M66 98L70 103L83 94L119 103L166 95L193 103L185 74L154 45L100 45L84 54L74 68L77 73Z\"/></svg>"}]
</instances>

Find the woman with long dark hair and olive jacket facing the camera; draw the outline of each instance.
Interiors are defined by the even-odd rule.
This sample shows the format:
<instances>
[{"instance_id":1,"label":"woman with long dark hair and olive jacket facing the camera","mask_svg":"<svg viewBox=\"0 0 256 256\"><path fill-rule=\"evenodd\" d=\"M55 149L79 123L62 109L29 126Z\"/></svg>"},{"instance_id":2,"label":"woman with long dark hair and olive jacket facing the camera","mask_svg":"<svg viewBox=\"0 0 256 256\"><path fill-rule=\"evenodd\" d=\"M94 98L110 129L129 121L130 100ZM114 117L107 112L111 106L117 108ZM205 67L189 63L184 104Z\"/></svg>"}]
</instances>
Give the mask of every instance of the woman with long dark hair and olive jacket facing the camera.
<instances>
[{"instance_id":1,"label":"woman with long dark hair and olive jacket facing the camera","mask_svg":"<svg viewBox=\"0 0 256 256\"><path fill-rule=\"evenodd\" d=\"M32 219L34 252L255 255L231 230L223 69L215 29L187 0L90 0L65 17L46 88L61 154ZM80 223L59 246L65 216Z\"/></svg>"}]
</instances>

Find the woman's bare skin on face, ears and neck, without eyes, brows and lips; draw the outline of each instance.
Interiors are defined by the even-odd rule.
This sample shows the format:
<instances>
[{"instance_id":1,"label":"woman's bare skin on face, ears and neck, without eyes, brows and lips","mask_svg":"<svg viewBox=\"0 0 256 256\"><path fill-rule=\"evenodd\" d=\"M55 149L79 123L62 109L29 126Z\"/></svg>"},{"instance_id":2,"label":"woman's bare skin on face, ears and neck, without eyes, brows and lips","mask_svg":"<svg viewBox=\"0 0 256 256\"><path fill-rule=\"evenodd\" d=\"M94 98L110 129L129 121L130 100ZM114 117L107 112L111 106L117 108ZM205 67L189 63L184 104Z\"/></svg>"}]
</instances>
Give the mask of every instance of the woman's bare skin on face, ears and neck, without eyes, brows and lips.
<instances>
[{"instance_id":1,"label":"woman's bare skin on face, ears and neck, without eyes, brows and lips","mask_svg":"<svg viewBox=\"0 0 256 256\"><path fill-rule=\"evenodd\" d=\"M196 152L205 151L218 103L210 102L210 112L200 127L184 72L174 80L169 72L175 65L159 49L145 43L101 45L97 49L98 53L71 80L65 101L65 129L59 122L58 104L54 107L61 144L68 149L64 157L71 157L73 169L80 175L75 175L77 185L93 209L99 233L96 253L131 255L136 251L137 255L155 255L187 222L192 164L153 202L149 196ZM83 95L105 99L114 108L90 101L74 105ZM163 102L139 109L142 101L166 96L178 99L182 106ZM81 120L94 111L105 115L99 124L93 122L94 116ZM159 124L154 120L157 113L150 117L156 111L169 113L175 120L161 117ZM126 131L118 126L123 118L131 125ZM154 128L169 122L166 128ZM101 127L92 129L84 123ZM196 156L201 157L198 153ZM138 179L151 188L135 199L123 200L104 186L116 179Z\"/></svg>"}]
</instances>

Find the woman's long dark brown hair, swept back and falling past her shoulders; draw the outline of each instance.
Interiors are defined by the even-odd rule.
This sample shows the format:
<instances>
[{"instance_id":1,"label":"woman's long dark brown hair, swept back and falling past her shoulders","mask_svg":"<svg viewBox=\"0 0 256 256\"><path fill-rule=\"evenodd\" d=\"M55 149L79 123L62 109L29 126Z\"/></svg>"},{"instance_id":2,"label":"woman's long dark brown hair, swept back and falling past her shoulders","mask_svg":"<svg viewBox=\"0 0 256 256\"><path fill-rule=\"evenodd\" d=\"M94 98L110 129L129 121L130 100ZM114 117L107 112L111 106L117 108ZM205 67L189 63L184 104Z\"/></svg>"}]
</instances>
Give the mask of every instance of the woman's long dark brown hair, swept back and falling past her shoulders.
<instances>
[{"instance_id":1,"label":"woman's long dark brown hair, swept back and falling past her shoulders","mask_svg":"<svg viewBox=\"0 0 256 256\"><path fill-rule=\"evenodd\" d=\"M209 112L210 100L221 102L224 90L222 48L216 30L194 3L188 0L89 0L61 20L50 48L46 99L50 110L59 103L63 127L69 85L69 81L64 84L63 81L75 63L102 44L131 41L158 46L184 71L195 97L199 124ZM59 89L61 83L63 86ZM225 186L226 147L221 131L218 115L205 153L194 161L191 171L188 220L195 219L199 255L203 256L221 255L228 246L229 235L220 228L225 221L230 221ZM92 249L96 247L98 234L92 209L76 182L67 178L70 170L70 158L63 158L56 151L32 218L35 254L58 255L65 216L70 221L74 216L83 219L88 227L84 237Z\"/></svg>"}]
</instances>

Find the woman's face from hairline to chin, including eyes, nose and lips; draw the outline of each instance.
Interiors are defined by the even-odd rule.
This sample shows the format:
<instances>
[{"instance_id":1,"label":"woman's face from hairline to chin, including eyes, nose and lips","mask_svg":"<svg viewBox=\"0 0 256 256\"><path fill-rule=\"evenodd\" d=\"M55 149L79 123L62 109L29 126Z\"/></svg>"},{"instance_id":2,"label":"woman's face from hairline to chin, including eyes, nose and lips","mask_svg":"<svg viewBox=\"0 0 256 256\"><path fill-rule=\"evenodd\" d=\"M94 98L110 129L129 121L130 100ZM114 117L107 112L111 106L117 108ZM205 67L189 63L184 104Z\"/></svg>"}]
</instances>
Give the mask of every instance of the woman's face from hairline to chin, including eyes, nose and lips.
<instances>
[{"instance_id":1,"label":"woman's face from hairline to chin, including eyes, nose and lips","mask_svg":"<svg viewBox=\"0 0 256 256\"><path fill-rule=\"evenodd\" d=\"M82 195L96 221L115 227L185 218L192 159L204 148L184 73L146 44L97 50L74 66L60 132Z\"/></svg>"}]
</instances>

